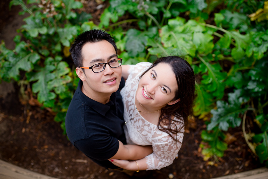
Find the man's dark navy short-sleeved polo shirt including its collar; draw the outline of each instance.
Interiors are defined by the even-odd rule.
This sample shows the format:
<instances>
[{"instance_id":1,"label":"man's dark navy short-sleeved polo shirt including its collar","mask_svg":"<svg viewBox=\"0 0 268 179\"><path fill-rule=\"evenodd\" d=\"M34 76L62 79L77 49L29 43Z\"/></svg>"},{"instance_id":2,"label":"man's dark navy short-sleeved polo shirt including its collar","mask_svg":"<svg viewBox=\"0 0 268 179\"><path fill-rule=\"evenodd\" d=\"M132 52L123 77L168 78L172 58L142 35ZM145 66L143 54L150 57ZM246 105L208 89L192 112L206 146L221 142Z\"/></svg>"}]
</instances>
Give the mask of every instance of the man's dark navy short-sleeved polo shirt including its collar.
<instances>
[{"instance_id":1,"label":"man's dark navy short-sleeved polo shirt including its collar","mask_svg":"<svg viewBox=\"0 0 268 179\"><path fill-rule=\"evenodd\" d=\"M70 142L87 157L105 168L118 168L107 159L114 156L119 142L126 144L124 133L124 105L120 89L125 85L122 78L119 90L112 93L110 101L99 103L82 93L82 81L73 95L65 118Z\"/></svg>"}]
</instances>

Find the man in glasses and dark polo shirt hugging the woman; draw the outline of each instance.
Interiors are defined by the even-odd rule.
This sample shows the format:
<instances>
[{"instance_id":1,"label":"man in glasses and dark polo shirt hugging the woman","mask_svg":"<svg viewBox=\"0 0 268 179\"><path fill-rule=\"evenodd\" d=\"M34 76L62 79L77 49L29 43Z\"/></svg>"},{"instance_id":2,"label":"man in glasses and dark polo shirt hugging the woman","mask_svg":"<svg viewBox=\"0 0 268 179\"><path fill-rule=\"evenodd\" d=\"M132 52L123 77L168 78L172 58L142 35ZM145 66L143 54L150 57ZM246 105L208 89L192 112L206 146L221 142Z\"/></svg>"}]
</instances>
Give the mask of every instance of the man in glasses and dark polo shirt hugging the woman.
<instances>
[{"instance_id":1,"label":"man in glasses and dark polo shirt hugging the woman","mask_svg":"<svg viewBox=\"0 0 268 179\"><path fill-rule=\"evenodd\" d=\"M108 159L136 160L150 154L151 146L124 145L122 59L111 35L96 29L83 32L70 53L80 78L66 114L70 142L105 168L118 168Z\"/></svg>"}]
</instances>

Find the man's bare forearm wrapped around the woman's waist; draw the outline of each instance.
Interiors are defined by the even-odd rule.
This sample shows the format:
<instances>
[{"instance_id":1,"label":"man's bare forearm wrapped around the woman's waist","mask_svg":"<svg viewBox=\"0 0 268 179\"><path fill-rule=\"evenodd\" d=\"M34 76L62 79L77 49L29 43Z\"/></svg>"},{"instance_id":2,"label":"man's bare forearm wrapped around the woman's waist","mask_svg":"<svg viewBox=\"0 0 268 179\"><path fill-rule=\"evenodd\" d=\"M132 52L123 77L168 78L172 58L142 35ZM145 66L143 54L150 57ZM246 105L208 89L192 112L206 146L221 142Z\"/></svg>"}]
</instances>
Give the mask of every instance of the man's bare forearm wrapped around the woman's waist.
<instances>
[{"instance_id":1,"label":"man's bare forearm wrapped around the woman's waist","mask_svg":"<svg viewBox=\"0 0 268 179\"><path fill-rule=\"evenodd\" d=\"M124 145L121 141L119 141L119 149L110 159L138 160L146 157L152 152L153 148L151 145Z\"/></svg>"}]
</instances>

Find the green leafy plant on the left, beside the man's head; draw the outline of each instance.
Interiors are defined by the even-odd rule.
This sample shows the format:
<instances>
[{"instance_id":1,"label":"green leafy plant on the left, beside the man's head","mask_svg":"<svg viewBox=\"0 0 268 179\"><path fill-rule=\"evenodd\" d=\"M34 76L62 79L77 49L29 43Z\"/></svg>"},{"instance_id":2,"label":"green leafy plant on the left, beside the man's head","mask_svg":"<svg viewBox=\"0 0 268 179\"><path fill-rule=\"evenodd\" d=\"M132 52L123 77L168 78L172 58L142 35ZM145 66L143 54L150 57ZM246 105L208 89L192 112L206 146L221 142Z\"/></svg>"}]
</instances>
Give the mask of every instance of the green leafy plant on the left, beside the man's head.
<instances>
[{"instance_id":1,"label":"green leafy plant on the left, beside the man's head","mask_svg":"<svg viewBox=\"0 0 268 179\"><path fill-rule=\"evenodd\" d=\"M76 87L75 76L66 62L70 58L68 49L77 34L94 25L88 22L90 14L74 11L82 8L78 1L28 3L24 4L22 0L10 2L10 6L21 5L22 14L29 13L29 16L20 28L23 40L20 36L14 39L15 49L7 49L4 43L0 46L0 77L5 81L13 79L19 84L31 85L38 102L57 114L55 120L61 123L65 133L65 113ZM38 3L38 6L32 3ZM80 21L74 20L76 18ZM25 76L21 77L22 72Z\"/></svg>"}]
</instances>

